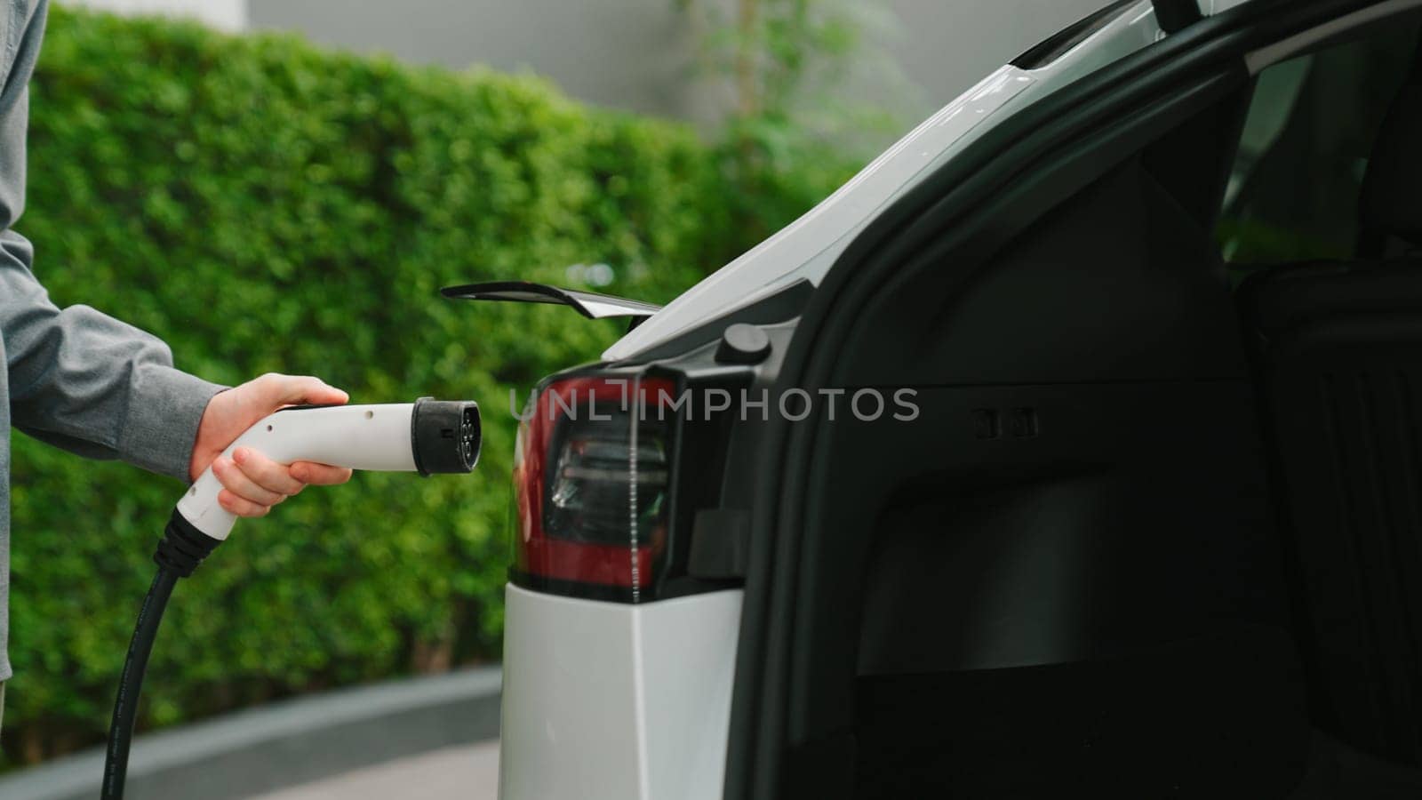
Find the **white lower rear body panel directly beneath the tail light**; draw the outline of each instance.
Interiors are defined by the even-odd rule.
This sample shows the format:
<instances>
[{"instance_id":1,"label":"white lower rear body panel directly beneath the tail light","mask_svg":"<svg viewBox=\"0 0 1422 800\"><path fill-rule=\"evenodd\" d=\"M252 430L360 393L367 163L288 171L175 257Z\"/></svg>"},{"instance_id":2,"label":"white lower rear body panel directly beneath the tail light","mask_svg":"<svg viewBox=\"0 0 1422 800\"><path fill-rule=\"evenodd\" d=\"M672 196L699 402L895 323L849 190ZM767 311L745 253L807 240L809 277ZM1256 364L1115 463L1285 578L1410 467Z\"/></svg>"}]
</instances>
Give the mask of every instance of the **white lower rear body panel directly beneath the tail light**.
<instances>
[{"instance_id":1,"label":"white lower rear body panel directly beneath the tail light","mask_svg":"<svg viewBox=\"0 0 1422 800\"><path fill-rule=\"evenodd\" d=\"M505 604L501 800L720 800L739 589Z\"/></svg>"}]
</instances>

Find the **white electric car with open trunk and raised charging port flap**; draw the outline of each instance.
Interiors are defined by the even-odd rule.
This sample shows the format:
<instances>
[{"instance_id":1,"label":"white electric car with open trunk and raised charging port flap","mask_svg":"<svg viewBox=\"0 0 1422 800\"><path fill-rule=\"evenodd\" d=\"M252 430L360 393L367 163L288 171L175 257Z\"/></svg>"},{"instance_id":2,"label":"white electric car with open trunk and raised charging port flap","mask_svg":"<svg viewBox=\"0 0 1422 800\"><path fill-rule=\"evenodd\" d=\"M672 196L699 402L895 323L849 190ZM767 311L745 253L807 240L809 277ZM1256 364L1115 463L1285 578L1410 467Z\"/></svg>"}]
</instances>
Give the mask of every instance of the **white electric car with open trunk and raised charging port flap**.
<instances>
[{"instance_id":1,"label":"white electric car with open trunk and raised charging port flap","mask_svg":"<svg viewBox=\"0 0 1422 800\"><path fill-rule=\"evenodd\" d=\"M503 800L1422 797L1422 0L1126 0L518 440Z\"/></svg>"}]
</instances>

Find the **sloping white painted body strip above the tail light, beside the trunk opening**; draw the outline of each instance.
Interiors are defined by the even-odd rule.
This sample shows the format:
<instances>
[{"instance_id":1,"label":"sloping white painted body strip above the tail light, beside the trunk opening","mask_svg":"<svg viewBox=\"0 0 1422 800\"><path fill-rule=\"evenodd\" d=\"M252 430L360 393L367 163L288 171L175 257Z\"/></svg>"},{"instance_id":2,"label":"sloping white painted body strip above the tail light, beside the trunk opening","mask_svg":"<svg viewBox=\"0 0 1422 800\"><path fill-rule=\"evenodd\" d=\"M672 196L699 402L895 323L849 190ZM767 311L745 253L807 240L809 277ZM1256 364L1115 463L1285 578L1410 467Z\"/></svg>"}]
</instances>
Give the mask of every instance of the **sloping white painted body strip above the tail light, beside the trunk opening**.
<instances>
[{"instance_id":1,"label":"sloping white painted body strip above the tail light, beside the trunk opening","mask_svg":"<svg viewBox=\"0 0 1422 800\"><path fill-rule=\"evenodd\" d=\"M1209 0L1207 0L1209 1ZM1229 0L1216 0L1221 7ZM603 353L607 362L674 339L708 319L799 282L825 278L835 259L889 204L985 131L1044 95L1160 38L1150 0L1039 70L1003 67L929 117L803 216L710 275Z\"/></svg>"}]
</instances>

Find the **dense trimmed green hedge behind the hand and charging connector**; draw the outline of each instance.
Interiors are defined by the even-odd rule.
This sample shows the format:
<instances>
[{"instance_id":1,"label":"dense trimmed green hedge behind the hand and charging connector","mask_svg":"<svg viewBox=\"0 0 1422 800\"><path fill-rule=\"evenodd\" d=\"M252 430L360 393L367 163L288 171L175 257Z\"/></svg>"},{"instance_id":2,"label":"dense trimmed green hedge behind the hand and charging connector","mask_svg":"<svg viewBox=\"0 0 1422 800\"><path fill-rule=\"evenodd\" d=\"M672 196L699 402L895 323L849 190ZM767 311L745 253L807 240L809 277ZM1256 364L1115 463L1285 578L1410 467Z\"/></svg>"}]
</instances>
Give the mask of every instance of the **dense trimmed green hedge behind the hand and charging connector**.
<instances>
[{"instance_id":1,"label":"dense trimmed green hedge behind the hand and charging connector","mask_svg":"<svg viewBox=\"0 0 1422 800\"><path fill-rule=\"evenodd\" d=\"M212 380L311 373L356 401L472 397L486 417L474 477L358 475L240 524L178 589L142 725L498 658L509 389L619 326L435 290L604 262L604 290L667 300L805 204L744 196L722 155L533 78L54 10L16 228L58 303L158 333ZM10 763L102 736L181 493L14 438Z\"/></svg>"}]
</instances>

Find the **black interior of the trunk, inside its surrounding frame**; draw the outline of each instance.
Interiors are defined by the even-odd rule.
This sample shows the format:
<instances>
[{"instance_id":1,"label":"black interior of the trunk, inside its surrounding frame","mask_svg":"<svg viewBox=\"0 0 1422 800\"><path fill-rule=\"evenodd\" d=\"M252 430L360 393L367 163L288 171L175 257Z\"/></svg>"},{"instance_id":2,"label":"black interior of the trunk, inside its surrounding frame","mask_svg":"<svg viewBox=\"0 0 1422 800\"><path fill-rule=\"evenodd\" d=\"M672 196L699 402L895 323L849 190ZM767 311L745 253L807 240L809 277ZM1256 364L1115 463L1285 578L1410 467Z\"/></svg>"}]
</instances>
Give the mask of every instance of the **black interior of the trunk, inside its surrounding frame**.
<instances>
[{"instance_id":1,"label":"black interior of the trunk, inside its surrounding frame","mask_svg":"<svg viewBox=\"0 0 1422 800\"><path fill-rule=\"evenodd\" d=\"M806 579L843 591L812 625L857 628L857 669L791 746L793 796L1422 797L1412 85L1357 258L1236 289L1241 93L970 278L869 306L848 389L913 386L921 417L823 433L811 521L845 567Z\"/></svg>"}]
</instances>

